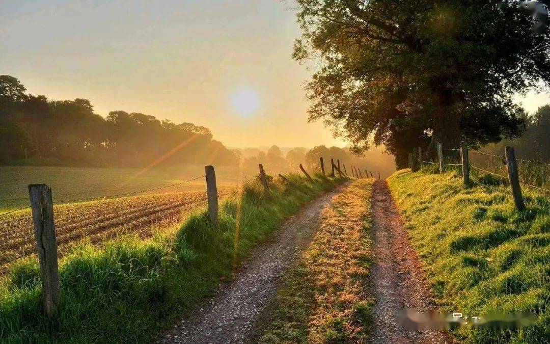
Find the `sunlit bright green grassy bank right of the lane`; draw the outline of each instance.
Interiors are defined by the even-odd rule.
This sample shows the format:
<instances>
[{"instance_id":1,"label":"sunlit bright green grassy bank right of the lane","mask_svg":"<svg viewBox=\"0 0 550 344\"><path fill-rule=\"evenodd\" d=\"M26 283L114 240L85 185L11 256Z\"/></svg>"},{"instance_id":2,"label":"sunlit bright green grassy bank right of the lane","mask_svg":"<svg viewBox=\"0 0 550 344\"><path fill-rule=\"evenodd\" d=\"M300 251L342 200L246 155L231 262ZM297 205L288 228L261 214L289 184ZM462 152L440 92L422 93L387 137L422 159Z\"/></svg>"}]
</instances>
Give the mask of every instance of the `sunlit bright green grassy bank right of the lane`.
<instances>
[{"instance_id":1,"label":"sunlit bright green grassy bank right of the lane","mask_svg":"<svg viewBox=\"0 0 550 344\"><path fill-rule=\"evenodd\" d=\"M550 338L550 199L508 188L463 189L455 172L398 171L389 178L411 242L445 311L477 316L533 312L520 330L459 330L471 342L542 343ZM524 190L525 191L525 190Z\"/></svg>"}]
</instances>

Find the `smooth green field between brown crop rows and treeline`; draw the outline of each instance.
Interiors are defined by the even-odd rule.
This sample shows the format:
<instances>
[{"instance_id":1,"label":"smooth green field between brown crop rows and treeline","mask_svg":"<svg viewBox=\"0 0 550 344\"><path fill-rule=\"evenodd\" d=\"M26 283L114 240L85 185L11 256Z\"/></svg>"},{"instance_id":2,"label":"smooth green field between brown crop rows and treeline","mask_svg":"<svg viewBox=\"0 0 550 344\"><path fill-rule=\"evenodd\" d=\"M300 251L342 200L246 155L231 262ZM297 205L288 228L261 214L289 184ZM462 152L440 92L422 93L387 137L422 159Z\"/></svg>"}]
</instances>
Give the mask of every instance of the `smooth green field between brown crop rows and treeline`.
<instances>
[{"instance_id":1,"label":"smooth green field between brown crop rows and treeline","mask_svg":"<svg viewBox=\"0 0 550 344\"><path fill-rule=\"evenodd\" d=\"M235 185L239 169L218 167L217 182L221 186ZM2 166L0 167L0 213L29 205L27 185L48 184L52 188L54 203L74 203L80 200L109 198L118 194L166 187L188 179L204 176L204 166L181 165L140 168L113 167L50 167L50 166ZM172 188L153 192L205 190L204 178Z\"/></svg>"}]
</instances>

